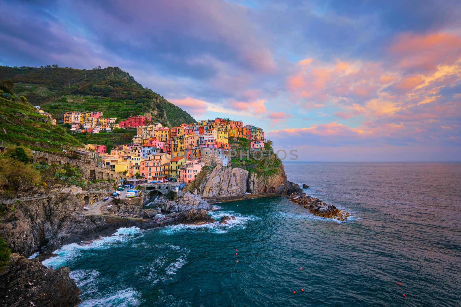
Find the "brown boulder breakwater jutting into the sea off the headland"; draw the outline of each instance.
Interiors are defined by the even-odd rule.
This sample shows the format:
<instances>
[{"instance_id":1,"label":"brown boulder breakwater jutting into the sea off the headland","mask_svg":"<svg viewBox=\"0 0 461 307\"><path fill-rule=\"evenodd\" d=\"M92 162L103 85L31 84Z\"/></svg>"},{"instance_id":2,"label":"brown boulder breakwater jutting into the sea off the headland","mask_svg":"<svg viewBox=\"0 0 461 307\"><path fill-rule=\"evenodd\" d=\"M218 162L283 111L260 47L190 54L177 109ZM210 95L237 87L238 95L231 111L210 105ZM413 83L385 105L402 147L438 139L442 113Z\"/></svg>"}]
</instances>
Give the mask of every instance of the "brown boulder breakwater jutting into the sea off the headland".
<instances>
[{"instance_id":1,"label":"brown boulder breakwater jutting into the sea off the headland","mask_svg":"<svg viewBox=\"0 0 461 307\"><path fill-rule=\"evenodd\" d=\"M322 202L319 198L308 196L306 193L292 193L290 201L300 204L309 212L329 219L347 220L349 213L337 209L334 205L329 205Z\"/></svg>"}]
</instances>

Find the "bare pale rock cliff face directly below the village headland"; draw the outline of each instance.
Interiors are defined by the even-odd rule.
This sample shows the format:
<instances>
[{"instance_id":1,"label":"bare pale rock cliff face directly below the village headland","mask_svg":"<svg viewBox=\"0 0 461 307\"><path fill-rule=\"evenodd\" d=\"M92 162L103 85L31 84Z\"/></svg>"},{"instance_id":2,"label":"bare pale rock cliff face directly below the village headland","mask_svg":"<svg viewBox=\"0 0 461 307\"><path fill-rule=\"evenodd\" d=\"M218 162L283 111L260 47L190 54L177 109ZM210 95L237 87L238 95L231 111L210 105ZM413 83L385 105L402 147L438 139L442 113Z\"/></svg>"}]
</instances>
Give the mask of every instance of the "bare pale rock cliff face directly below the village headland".
<instances>
[{"instance_id":1,"label":"bare pale rock cliff face directly below the village headland","mask_svg":"<svg viewBox=\"0 0 461 307\"><path fill-rule=\"evenodd\" d=\"M187 189L206 197L231 196L244 192L288 196L293 192L301 192L299 185L287 180L283 165L280 165L270 175L249 173L242 168L221 165L215 166L211 171L204 168Z\"/></svg>"}]
</instances>

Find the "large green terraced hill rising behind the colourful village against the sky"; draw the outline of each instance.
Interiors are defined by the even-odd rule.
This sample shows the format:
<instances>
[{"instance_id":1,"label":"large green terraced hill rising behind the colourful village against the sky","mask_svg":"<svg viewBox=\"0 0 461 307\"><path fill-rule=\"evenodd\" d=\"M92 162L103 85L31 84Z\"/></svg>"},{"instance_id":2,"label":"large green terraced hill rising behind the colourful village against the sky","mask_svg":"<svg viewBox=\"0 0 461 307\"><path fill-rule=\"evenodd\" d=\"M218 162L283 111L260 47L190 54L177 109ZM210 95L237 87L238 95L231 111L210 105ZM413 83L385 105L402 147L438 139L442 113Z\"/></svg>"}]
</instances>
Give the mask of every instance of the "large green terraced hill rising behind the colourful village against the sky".
<instances>
[{"instance_id":1,"label":"large green terraced hill rising behind the colourful village against the sky","mask_svg":"<svg viewBox=\"0 0 461 307\"><path fill-rule=\"evenodd\" d=\"M150 113L154 122L178 126L196 122L187 112L159 94L142 87L129 73L118 67L78 70L58 67L0 66L0 82L11 80L13 92L40 105L58 121L66 111L102 111L104 117Z\"/></svg>"}]
</instances>

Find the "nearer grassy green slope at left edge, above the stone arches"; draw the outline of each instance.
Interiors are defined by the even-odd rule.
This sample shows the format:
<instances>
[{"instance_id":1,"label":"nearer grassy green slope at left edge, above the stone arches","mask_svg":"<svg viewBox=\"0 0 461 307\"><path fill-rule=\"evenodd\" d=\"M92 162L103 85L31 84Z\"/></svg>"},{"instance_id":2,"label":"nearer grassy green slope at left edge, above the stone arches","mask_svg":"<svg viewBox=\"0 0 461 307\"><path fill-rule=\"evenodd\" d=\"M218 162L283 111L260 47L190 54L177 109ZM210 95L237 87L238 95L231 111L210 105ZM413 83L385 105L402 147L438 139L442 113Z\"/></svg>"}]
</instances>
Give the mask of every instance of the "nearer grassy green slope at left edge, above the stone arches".
<instances>
[{"instance_id":1,"label":"nearer grassy green slope at left edge, above the stone arches","mask_svg":"<svg viewBox=\"0 0 461 307\"><path fill-rule=\"evenodd\" d=\"M48 123L27 102L0 97L0 142L28 145L33 150L61 151L61 145L83 146L59 126Z\"/></svg>"}]
</instances>

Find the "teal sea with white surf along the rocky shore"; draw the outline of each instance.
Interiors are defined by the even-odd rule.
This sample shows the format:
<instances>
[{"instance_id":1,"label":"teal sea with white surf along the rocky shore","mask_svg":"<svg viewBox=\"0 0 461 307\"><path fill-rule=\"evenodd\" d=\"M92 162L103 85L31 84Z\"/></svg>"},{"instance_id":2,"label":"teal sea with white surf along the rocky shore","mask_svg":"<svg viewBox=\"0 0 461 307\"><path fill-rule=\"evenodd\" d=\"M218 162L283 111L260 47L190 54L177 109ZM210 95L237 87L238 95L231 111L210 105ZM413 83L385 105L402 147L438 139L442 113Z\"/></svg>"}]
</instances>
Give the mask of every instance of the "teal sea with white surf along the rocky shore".
<instances>
[{"instance_id":1,"label":"teal sea with white surf along the rocky shore","mask_svg":"<svg viewBox=\"0 0 461 307\"><path fill-rule=\"evenodd\" d=\"M80 306L461 306L461 163L284 166L351 217L286 197L218 203L211 216L236 219L120 228L43 264L70 267Z\"/></svg>"}]
</instances>

